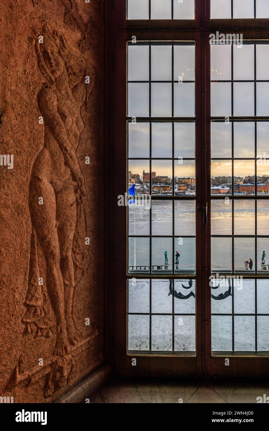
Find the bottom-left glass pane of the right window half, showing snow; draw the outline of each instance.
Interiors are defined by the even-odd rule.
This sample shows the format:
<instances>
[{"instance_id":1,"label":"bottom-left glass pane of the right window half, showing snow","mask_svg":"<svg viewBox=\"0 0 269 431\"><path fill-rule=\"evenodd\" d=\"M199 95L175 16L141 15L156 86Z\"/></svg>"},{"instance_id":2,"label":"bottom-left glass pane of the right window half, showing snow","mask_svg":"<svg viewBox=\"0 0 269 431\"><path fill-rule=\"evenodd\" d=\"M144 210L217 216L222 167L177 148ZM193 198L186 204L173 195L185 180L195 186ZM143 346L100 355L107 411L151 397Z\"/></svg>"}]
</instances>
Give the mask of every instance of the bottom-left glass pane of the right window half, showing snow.
<instances>
[{"instance_id":1,"label":"bottom-left glass pane of the right window half, showing snow","mask_svg":"<svg viewBox=\"0 0 269 431\"><path fill-rule=\"evenodd\" d=\"M212 316L212 350L215 352L232 349L231 316Z\"/></svg>"}]
</instances>

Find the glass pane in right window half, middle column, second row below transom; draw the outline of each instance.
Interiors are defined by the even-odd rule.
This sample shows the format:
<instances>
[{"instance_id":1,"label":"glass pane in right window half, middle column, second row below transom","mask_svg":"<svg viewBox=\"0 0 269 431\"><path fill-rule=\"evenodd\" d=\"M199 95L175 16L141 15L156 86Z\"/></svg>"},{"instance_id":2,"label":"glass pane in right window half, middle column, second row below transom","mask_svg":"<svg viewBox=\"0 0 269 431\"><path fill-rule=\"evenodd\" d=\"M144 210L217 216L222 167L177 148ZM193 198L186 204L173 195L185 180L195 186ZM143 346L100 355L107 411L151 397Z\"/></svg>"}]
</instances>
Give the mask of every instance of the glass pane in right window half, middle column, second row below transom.
<instances>
[{"instance_id":1,"label":"glass pane in right window half, middle column, second row below transom","mask_svg":"<svg viewBox=\"0 0 269 431\"><path fill-rule=\"evenodd\" d=\"M253 82L234 82L234 116L253 116L253 115L254 115L254 83Z\"/></svg>"}]
</instances>

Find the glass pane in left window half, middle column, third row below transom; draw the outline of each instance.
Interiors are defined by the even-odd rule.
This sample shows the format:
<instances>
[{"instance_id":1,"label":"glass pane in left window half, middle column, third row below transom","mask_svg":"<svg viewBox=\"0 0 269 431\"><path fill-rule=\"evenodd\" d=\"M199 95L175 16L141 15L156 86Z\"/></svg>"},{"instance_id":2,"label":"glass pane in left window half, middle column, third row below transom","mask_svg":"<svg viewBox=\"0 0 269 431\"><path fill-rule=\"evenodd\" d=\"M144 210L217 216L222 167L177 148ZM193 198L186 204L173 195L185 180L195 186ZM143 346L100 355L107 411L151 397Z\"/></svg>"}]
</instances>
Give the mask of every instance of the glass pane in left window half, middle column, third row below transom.
<instances>
[{"instance_id":1,"label":"glass pane in left window half, middle column, third row below transom","mask_svg":"<svg viewBox=\"0 0 269 431\"><path fill-rule=\"evenodd\" d=\"M152 123L152 157L172 157L172 123Z\"/></svg>"}]
</instances>

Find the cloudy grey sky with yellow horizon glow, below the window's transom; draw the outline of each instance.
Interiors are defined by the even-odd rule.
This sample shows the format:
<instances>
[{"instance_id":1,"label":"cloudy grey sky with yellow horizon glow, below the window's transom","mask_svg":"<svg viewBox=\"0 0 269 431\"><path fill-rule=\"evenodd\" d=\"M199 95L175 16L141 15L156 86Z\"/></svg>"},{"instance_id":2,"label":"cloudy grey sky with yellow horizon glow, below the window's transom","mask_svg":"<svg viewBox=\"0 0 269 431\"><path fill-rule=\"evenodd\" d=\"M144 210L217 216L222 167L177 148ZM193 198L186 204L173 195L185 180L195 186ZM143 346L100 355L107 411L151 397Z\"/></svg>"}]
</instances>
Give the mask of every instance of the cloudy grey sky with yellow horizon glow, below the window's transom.
<instances>
[{"instance_id":1,"label":"cloudy grey sky with yellow horizon glow, below the window's transom","mask_svg":"<svg viewBox=\"0 0 269 431\"><path fill-rule=\"evenodd\" d=\"M137 1L137 0L136 0ZM268 2L269 3L269 2ZM195 80L194 45L174 47L173 79L182 76L183 81ZM243 44L233 49L233 78L254 79L254 45ZM149 116L149 46L128 47L128 116ZM269 80L269 45L256 46L256 78ZM194 117L194 83L172 83L172 47L151 47L151 116L172 117L172 85L174 87L174 116ZM231 80L231 45L211 46L211 80ZM138 82L130 82L138 81ZM163 82L170 81L170 82ZM257 82L257 115L268 116L269 82ZM234 83L234 115L254 116L254 83ZM211 115L231 116L231 82L211 83ZM194 122L174 124L175 158L195 157ZM232 126L230 123L213 122L211 125L211 156L216 159L230 158ZM150 123L128 123L129 157L150 156ZM257 155L269 156L269 122L257 123ZM172 122L152 123L152 157L172 157ZM234 123L234 157L255 157L255 123ZM149 172L149 161L130 161L129 170L142 175ZM152 171L157 175L172 177L172 161L155 160ZM175 162L175 176L194 176L194 162ZM258 166L258 175L268 175L269 166ZM231 161L214 160L213 176L231 176ZM254 175L254 161L234 162L234 175Z\"/></svg>"}]
</instances>

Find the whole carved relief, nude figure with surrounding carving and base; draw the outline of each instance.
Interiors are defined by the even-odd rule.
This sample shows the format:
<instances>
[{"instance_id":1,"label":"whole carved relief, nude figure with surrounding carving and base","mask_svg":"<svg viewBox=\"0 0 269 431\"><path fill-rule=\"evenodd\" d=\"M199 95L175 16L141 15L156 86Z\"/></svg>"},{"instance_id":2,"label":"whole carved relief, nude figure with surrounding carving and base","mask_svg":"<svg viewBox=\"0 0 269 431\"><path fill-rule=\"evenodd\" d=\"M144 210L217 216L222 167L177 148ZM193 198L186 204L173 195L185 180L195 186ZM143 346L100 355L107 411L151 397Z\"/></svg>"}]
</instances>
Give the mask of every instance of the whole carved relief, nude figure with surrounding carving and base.
<instances>
[{"instance_id":1,"label":"whole carved relief, nude figure with surrounding carving and base","mask_svg":"<svg viewBox=\"0 0 269 431\"><path fill-rule=\"evenodd\" d=\"M37 2L31 3L37 9ZM95 19L89 16L84 22L73 0L58 3L65 10L63 26L81 36L74 49L64 31L45 19L41 20L43 24L38 31L32 28L28 36L40 74L36 104L42 118L43 142L32 161L28 180L31 231L27 289L19 318L25 348L21 349L23 355L5 384L5 391L11 391L19 385L26 388L42 380L45 398L75 381L79 357L91 348L96 349L95 339L102 334L96 316L85 315L90 317L91 324L84 332L78 329L74 316L75 292L78 288L84 292L83 286L87 286L92 276L91 244L85 244L92 229L85 208L90 197L81 154L87 140L94 142L95 137L89 136L89 131L100 127L94 106L98 91L97 63L83 54L94 40ZM99 9L99 5L92 3L92 9ZM38 35L43 36L42 43ZM93 125L89 123L91 119ZM85 156L91 154L84 152ZM93 292L91 296L94 295ZM81 319L85 317L82 315ZM27 366L22 360L22 356L27 356L26 346L34 346L41 340L48 346L44 365L36 365L31 359Z\"/></svg>"}]
</instances>

